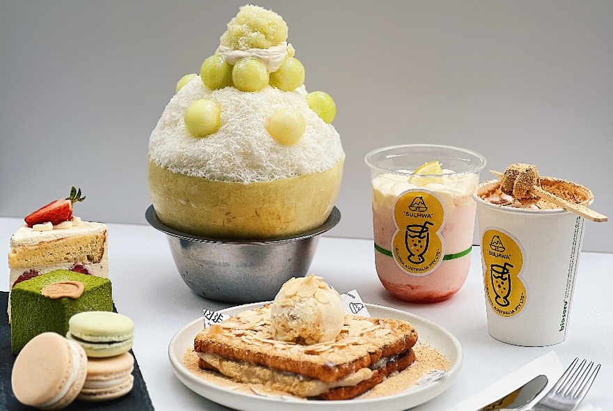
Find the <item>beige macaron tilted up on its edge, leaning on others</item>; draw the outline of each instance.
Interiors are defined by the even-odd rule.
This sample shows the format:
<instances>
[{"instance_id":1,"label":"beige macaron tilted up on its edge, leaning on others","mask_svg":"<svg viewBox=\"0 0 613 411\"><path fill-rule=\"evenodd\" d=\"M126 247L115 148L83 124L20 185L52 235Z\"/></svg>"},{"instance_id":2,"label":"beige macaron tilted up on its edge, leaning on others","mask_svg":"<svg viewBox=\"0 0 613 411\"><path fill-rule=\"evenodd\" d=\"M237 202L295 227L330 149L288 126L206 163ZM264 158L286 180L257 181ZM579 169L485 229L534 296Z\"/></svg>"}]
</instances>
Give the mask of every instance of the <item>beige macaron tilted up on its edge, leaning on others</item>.
<instances>
[{"instance_id":1,"label":"beige macaron tilted up on its edge, leaning on others","mask_svg":"<svg viewBox=\"0 0 613 411\"><path fill-rule=\"evenodd\" d=\"M77 398L87 374L84 349L54 332L31 339L15 359L10 380L20 403L60 410Z\"/></svg>"}]
</instances>

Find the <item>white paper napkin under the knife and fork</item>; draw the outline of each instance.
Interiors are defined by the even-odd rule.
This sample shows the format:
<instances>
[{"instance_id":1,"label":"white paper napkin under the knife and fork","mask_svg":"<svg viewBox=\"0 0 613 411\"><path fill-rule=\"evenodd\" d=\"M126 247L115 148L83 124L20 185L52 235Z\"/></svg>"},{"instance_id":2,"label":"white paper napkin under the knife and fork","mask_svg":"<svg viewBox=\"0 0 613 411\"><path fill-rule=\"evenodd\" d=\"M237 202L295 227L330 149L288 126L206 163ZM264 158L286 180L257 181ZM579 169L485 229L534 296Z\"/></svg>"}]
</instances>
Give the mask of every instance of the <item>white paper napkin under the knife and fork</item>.
<instances>
[{"instance_id":1,"label":"white paper napkin under the knife and fork","mask_svg":"<svg viewBox=\"0 0 613 411\"><path fill-rule=\"evenodd\" d=\"M562 373L566 368L562 366L560 360L554 351L550 351L542 357L538 357L533 361L529 362L522 368L513 371L508 375L500 378L497 382L494 382L492 385L483 389L474 396L467 398L465 401L462 401L455 407L451 408L449 411L474 411L479 408L483 408L489 403L496 401L498 398L502 398L509 392L515 390L517 387L524 385L526 382L536 377L536 375L546 375L549 379L547 387L541 391L541 394L538 394L534 400L529 403L525 409L529 409L531 405L534 405L544 396L553 385L560 378ZM602 411L600 408L593 408L589 403L581 403L579 408L575 411Z\"/></svg>"}]
</instances>

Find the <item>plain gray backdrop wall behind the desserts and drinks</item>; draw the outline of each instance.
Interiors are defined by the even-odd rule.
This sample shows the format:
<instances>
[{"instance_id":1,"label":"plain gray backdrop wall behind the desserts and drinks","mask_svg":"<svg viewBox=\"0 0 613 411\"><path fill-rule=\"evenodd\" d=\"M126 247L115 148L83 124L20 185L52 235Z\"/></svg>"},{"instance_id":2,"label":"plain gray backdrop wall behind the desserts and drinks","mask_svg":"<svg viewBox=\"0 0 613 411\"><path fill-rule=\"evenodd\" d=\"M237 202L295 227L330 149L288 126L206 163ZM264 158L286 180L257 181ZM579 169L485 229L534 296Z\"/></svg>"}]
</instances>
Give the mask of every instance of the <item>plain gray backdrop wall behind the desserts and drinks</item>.
<instances>
[{"instance_id":1,"label":"plain gray backdrop wall behind the desserts and drinks","mask_svg":"<svg viewBox=\"0 0 613 411\"><path fill-rule=\"evenodd\" d=\"M144 224L148 137L242 1L0 0L0 215L67 196ZM332 235L372 238L368 151L460 146L487 169L536 164L613 217L612 1L259 1L284 17L346 151ZM486 171L482 179L490 178ZM6 239L8 240L8 239ZM587 223L584 250L613 251Z\"/></svg>"}]
</instances>

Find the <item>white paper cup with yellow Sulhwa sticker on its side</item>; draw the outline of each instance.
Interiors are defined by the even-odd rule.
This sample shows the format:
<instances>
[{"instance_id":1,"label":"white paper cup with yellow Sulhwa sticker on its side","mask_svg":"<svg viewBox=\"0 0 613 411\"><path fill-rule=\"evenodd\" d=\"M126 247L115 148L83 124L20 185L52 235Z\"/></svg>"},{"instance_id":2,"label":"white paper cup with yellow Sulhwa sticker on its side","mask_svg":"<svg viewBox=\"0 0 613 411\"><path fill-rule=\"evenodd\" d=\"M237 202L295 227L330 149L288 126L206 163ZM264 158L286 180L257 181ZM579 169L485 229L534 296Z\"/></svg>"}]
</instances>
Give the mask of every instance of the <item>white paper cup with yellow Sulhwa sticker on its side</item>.
<instances>
[{"instance_id":1,"label":"white paper cup with yellow Sulhwa sticker on its side","mask_svg":"<svg viewBox=\"0 0 613 411\"><path fill-rule=\"evenodd\" d=\"M551 180L584 199L589 189ZM550 346L566 338L584 219L561 209L533 210L497 206L481 195L499 180L475 189L481 238L488 332L518 346Z\"/></svg>"}]
</instances>

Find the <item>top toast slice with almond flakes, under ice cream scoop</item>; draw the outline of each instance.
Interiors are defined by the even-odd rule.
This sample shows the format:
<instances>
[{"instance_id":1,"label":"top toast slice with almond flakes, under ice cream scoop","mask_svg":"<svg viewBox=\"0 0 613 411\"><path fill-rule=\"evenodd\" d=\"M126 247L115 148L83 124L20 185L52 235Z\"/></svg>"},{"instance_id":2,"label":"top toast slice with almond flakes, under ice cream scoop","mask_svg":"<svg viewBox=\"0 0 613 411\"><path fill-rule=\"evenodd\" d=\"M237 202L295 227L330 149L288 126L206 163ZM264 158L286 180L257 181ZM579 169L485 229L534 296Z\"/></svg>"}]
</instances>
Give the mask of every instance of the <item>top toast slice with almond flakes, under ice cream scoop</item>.
<instances>
[{"instance_id":1,"label":"top toast slice with almond flakes, under ice cream scoop","mask_svg":"<svg viewBox=\"0 0 613 411\"><path fill-rule=\"evenodd\" d=\"M407 353L416 342L417 332L410 323L349 314L334 341L311 346L277 341L270 334L270 309L264 306L203 329L194 340L194 350L337 382L362 369L380 368L378 362Z\"/></svg>"}]
</instances>

